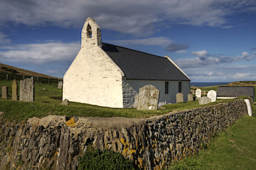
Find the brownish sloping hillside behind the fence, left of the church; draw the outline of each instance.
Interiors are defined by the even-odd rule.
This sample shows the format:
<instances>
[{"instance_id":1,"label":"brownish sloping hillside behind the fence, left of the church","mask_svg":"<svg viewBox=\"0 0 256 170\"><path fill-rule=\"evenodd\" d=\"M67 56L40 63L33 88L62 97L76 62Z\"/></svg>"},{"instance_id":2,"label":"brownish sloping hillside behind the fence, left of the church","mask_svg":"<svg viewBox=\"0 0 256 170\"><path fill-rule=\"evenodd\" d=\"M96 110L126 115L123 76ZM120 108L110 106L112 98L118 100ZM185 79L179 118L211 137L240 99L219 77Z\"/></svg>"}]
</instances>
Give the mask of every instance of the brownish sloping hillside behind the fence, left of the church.
<instances>
[{"instance_id":1,"label":"brownish sloping hillside behind the fence, left of the church","mask_svg":"<svg viewBox=\"0 0 256 170\"><path fill-rule=\"evenodd\" d=\"M58 77L52 77L50 75L45 75L42 73L31 72L29 70L17 68L15 66L4 65L3 63L0 63L0 73L8 73L10 75L25 75L26 77L44 77L50 79L60 79Z\"/></svg>"}]
</instances>

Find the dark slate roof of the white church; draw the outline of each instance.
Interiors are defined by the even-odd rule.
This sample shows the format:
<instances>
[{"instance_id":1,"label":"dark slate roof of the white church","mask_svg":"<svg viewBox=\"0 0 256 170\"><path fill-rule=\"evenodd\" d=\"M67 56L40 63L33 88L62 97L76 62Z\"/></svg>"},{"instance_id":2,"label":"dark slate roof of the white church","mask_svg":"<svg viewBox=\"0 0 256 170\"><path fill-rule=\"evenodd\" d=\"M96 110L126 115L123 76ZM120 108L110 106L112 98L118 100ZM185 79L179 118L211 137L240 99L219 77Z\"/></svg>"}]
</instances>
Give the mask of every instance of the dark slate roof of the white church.
<instances>
[{"instance_id":1,"label":"dark slate roof of the white church","mask_svg":"<svg viewBox=\"0 0 256 170\"><path fill-rule=\"evenodd\" d=\"M102 49L124 72L126 79L190 81L167 58L102 43Z\"/></svg>"}]
</instances>

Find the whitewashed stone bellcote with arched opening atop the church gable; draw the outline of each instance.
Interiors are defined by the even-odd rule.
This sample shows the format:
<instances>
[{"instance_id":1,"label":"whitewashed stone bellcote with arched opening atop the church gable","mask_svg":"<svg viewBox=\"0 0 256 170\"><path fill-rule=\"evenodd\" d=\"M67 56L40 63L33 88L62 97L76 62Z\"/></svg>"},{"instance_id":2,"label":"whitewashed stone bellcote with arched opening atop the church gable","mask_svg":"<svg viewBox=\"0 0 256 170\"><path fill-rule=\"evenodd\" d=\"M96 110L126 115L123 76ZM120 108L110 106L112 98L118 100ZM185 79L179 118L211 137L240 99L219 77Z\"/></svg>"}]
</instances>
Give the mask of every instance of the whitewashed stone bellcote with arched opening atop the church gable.
<instances>
[{"instance_id":1,"label":"whitewashed stone bellcote with arched opening atop the church gable","mask_svg":"<svg viewBox=\"0 0 256 170\"><path fill-rule=\"evenodd\" d=\"M102 47L100 27L94 19L88 17L84 23L81 38L81 47Z\"/></svg>"}]
</instances>

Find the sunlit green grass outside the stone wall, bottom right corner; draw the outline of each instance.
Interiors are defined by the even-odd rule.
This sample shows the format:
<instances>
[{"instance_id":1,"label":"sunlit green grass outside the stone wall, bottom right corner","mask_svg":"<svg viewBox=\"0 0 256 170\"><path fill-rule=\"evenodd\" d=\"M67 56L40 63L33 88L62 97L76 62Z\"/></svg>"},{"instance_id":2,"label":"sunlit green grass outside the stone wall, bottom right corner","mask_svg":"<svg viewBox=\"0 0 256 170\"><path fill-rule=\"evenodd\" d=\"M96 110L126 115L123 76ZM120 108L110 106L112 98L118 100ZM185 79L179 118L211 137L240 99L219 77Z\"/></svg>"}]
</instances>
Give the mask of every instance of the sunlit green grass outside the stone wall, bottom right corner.
<instances>
[{"instance_id":1,"label":"sunlit green grass outside the stone wall, bottom right corner","mask_svg":"<svg viewBox=\"0 0 256 170\"><path fill-rule=\"evenodd\" d=\"M256 169L256 118L244 116L214 137L209 148L169 169Z\"/></svg>"}]
</instances>

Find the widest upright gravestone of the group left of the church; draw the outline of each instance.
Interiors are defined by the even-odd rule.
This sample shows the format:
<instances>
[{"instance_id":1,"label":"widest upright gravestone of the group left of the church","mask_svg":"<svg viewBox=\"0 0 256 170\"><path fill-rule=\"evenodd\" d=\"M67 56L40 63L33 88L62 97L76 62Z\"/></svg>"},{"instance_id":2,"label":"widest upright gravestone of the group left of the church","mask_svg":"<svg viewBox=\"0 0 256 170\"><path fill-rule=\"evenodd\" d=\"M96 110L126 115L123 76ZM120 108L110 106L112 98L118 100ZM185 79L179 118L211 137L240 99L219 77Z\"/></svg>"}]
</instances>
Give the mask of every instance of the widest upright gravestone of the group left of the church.
<instances>
[{"instance_id":1,"label":"widest upright gravestone of the group left of the church","mask_svg":"<svg viewBox=\"0 0 256 170\"><path fill-rule=\"evenodd\" d=\"M35 101L35 82L33 77L20 81L20 101Z\"/></svg>"}]
</instances>

